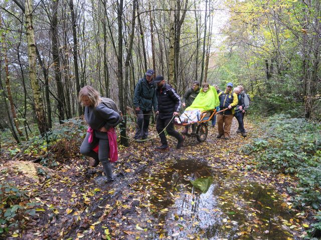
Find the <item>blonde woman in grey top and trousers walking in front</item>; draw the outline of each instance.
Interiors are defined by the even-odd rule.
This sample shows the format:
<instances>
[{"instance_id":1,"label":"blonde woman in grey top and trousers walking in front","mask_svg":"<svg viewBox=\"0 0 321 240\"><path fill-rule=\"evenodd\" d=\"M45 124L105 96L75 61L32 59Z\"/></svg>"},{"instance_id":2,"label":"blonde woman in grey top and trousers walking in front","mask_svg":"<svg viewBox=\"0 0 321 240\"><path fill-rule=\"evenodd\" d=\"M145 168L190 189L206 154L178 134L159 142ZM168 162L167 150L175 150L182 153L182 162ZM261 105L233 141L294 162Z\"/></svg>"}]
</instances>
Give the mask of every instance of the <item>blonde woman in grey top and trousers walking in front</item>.
<instances>
[{"instance_id":1,"label":"blonde woman in grey top and trousers walking in front","mask_svg":"<svg viewBox=\"0 0 321 240\"><path fill-rule=\"evenodd\" d=\"M85 120L92 128L92 133L87 132L85 139L80 146L80 153L95 159L95 165L99 161L104 167L107 182L112 181L113 174L111 164L108 160L109 141L107 131L109 127L117 125L119 114L113 109L108 108L101 102L99 92L92 86L84 86L80 89L78 100L85 106ZM92 136L92 139L90 138ZM93 148L99 145L98 153Z\"/></svg>"}]
</instances>

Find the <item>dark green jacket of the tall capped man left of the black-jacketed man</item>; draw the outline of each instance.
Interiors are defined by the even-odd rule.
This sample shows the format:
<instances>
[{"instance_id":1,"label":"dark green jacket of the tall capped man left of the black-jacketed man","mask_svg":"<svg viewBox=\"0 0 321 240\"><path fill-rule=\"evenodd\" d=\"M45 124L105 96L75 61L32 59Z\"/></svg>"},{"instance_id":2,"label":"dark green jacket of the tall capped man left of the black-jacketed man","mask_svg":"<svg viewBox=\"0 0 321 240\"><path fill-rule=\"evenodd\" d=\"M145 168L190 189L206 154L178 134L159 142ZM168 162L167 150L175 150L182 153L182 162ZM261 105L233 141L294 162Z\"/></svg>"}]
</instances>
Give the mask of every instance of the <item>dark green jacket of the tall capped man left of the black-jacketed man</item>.
<instances>
[{"instance_id":1,"label":"dark green jacket of the tall capped man left of the black-jacketed man","mask_svg":"<svg viewBox=\"0 0 321 240\"><path fill-rule=\"evenodd\" d=\"M144 111L157 109L157 97L156 97L156 86L153 81L147 82L146 78L143 77L138 80L134 91L134 106L139 106Z\"/></svg>"}]
</instances>

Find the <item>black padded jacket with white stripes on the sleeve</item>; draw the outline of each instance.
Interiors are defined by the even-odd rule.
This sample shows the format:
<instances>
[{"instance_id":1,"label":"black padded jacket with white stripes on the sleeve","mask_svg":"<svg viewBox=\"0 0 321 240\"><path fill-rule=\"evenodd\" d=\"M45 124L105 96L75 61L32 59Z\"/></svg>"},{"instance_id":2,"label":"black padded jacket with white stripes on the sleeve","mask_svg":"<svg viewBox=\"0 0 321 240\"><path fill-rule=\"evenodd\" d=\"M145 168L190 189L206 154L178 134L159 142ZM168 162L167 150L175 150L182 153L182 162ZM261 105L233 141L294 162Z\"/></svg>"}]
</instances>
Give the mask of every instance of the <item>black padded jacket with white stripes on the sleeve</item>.
<instances>
[{"instance_id":1,"label":"black padded jacket with white stripes on the sleeve","mask_svg":"<svg viewBox=\"0 0 321 240\"><path fill-rule=\"evenodd\" d=\"M164 84L162 87L158 87L156 95L158 117L162 119L170 118L173 117L174 111L180 111L181 97L171 85Z\"/></svg>"}]
</instances>

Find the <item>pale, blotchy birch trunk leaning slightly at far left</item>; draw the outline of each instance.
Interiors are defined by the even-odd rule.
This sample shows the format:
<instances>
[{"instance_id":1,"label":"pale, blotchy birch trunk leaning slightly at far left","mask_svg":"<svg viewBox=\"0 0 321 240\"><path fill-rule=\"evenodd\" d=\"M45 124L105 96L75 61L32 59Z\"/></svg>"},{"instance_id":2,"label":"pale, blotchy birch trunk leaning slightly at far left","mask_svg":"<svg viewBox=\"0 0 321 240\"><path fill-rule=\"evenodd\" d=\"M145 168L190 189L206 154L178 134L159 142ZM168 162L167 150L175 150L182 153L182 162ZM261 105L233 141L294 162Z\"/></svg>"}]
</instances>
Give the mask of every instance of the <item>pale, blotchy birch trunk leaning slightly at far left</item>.
<instances>
[{"instance_id":1,"label":"pale, blotchy birch trunk leaning slightly at far left","mask_svg":"<svg viewBox=\"0 0 321 240\"><path fill-rule=\"evenodd\" d=\"M37 78L37 69L36 69L37 54L36 54L35 32L34 32L33 20L32 20L32 5L33 5L33 0L25 1L29 77L31 80L31 87L34 95L38 128L39 128L40 134L44 136L45 132L48 131L48 126L47 126L47 121L45 117L43 101L41 97L41 90L40 90L40 86Z\"/></svg>"}]
</instances>

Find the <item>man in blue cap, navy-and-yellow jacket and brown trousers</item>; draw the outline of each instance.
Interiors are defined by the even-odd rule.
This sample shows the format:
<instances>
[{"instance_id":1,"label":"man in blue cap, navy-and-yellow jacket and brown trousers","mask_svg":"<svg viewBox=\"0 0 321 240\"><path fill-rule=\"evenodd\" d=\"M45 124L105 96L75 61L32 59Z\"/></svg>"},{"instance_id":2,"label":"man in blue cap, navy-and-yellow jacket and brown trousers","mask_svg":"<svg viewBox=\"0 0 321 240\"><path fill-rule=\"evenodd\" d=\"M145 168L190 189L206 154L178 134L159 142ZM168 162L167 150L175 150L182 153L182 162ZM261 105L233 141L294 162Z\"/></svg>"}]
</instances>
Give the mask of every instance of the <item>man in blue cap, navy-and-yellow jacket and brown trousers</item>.
<instances>
[{"instance_id":1,"label":"man in blue cap, navy-and-yellow jacket and brown trousers","mask_svg":"<svg viewBox=\"0 0 321 240\"><path fill-rule=\"evenodd\" d=\"M225 91L221 91L218 96L220 99L220 110L226 109L217 115L218 132L217 138L224 136L224 139L230 138L230 130L234 116L234 107L238 103L237 94L232 91L233 83L226 85ZM223 126L224 124L224 126Z\"/></svg>"}]
</instances>

